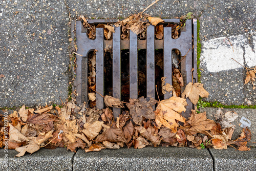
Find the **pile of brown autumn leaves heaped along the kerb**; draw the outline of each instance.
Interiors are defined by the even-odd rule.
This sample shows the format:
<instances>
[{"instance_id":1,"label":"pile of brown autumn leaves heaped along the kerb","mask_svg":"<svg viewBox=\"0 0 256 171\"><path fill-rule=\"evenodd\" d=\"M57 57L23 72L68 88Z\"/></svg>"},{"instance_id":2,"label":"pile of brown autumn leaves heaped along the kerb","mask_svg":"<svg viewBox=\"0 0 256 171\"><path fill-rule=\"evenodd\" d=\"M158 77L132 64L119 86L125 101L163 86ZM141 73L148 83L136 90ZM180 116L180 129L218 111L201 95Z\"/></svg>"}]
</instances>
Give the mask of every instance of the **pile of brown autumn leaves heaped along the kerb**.
<instances>
[{"instance_id":1,"label":"pile of brown autumn leaves heaped along the kerb","mask_svg":"<svg viewBox=\"0 0 256 171\"><path fill-rule=\"evenodd\" d=\"M182 97L187 96L196 103L199 96L207 92L201 83L189 83ZM145 146L189 146L193 148L214 147L226 149L227 145L237 145L239 150L249 150L246 146L251 138L248 128L240 137L231 140L234 126L230 124L237 118L235 112L216 113L217 122L206 118L206 113L191 111L188 119L181 115L187 105L186 99L171 97L157 101L140 97L130 99L125 105L129 111L122 110L114 118L111 108L124 108L119 99L104 96L106 109L81 108L74 101L59 106L26 109L25 105L8 116L9 125L1 124L0 146L3 147L4 129L8 129L8 148L19 152L34 153L41 147L67 147L72 152L82 148L86 152L100 151L103 148L143 148ZM157 103L156 110L152 106Z\"/></svg>"}]
</instances>

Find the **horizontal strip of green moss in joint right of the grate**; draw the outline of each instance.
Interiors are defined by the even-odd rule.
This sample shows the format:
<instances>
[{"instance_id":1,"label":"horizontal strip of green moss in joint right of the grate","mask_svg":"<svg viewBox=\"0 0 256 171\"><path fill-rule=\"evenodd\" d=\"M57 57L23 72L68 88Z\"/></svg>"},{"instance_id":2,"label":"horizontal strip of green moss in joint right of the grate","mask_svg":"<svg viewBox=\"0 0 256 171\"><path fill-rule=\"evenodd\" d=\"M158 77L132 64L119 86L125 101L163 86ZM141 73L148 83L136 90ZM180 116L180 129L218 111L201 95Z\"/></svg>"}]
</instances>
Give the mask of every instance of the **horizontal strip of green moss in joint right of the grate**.
<instances>
[{"instance_id":1,"label":"horizontal strip of green moss in joint right of the grate","mask_svg":"<svg viewBox=\"0 0 256 171\"><path fill-rule=\"evenodd\" d=\"M202 101L200 102L200 104L202 104ZM256 109L256 105L224 105L224 104L221 104L219 101L215 101L215 102L204 101L203 108Z\"/></svg>"}]
</instances>

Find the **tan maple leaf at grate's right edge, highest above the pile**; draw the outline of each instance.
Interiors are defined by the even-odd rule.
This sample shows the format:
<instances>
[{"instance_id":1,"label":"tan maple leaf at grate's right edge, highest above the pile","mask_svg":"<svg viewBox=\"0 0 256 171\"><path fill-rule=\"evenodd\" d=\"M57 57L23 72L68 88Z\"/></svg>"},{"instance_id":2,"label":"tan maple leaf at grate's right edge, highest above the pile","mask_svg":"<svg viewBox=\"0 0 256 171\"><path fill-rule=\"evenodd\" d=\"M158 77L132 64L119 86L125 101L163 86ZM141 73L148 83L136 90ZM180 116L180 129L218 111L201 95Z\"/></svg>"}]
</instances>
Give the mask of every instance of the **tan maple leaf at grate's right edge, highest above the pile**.
<instances>
[{"instance_id":1,"label":"tan maple leaf at grate's right edge, highest above the pile","mask_svg":"<svg viewBox=\"0 0 256 171\"><path fill-rule=\"evenodd\" d=\"M189 100L193 103L193 104L197 104L198 100L199 100L199 96L201 97L208 97L209 93L204 90L203 88L204 84L196 82L196 83L192 83L189 82L184 90L184 92L181 94L181 97L184 98L186 96L186 98L188 97Z\"/></svg>"}]
</instances>

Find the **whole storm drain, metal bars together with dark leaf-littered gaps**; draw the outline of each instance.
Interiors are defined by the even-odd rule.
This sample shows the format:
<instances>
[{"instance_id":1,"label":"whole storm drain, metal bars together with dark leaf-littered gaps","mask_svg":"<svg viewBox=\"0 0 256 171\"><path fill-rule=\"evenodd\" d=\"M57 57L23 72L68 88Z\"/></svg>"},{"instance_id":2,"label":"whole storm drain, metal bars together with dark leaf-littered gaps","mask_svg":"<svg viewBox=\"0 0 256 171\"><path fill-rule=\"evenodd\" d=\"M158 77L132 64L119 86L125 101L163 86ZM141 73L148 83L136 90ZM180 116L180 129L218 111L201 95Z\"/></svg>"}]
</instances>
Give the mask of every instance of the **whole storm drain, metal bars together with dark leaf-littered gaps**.
<instances>
[{"instance_id":1,"label":"whole storm drain, metal bars together with dark leaf-littered gaps","mask_svg":"<svg viewBox=\"0 0 256 171\"><path fill-rule=\"evenodd\" d=\"M78 104L89 102L88 96L93 93L89 87L103 96L129 102L130 98L141 96L158 100L157 86L159 99L163 100L180 96L186 84L193 77L197 79L196 19L188 19L179 35L174 35L179 19L164 19L162 25L150 25L143 35L136 35L131 30L126 30L124 35L122 27L115 27L110 33L99 25L115 22L117 20L88 20L94 25L95 34L89 33L80 21L76 23L77 53L81 55L77 55L74 85ZM193 76L192 68L195 69ZM163 77L165 84L172 85L175 91L162 93ZM103 109L104 100L98 93L96 100L90 100L88 104L95 106L93 103L96 102L96 108ZM188 105L182 115L187 118L193 104L188 98L186 100ZM117 117L121 110L114 108L113 113Z\"/></svg>"}]
</instances>

